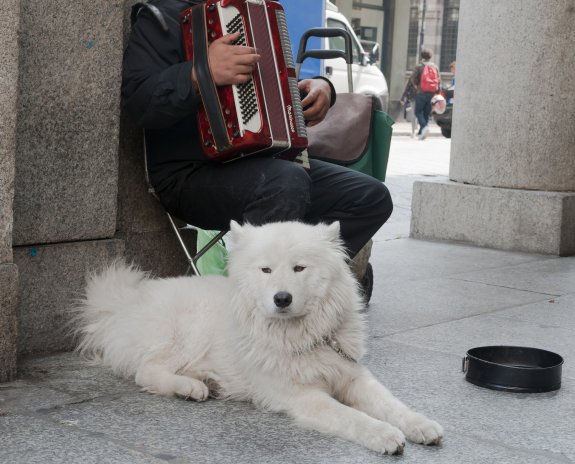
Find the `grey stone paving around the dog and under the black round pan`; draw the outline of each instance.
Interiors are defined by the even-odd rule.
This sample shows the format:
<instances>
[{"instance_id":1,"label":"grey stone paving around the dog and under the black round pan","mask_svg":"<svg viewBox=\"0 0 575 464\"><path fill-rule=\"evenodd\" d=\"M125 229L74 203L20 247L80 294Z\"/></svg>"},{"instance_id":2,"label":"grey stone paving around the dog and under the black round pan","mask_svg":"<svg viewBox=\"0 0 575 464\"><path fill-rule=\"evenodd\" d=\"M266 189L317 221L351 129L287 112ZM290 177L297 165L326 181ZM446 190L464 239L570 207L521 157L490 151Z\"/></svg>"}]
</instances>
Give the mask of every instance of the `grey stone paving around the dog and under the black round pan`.
<instances>
[{"instance_id":1,"label":"grey stone paving around the dog and under the black round pan","mask_svg":"<svg viewBox=\"0 0 575 464\"><path fill-rule=\"evenodd\" d=\"M396 132L386 181L396 206L375 237L364 362L444 426L440 447L408 444L403 456L380 456L250 404L141 393L59 354L22 361L19 380L0 385L0 463L575 462L575 257L408 238L413 182L430 177L420 165L405 173L394 157L402 143ZM438 178L448 158L438 161ZM469 384L462 357L490 344L560 353L562 388L513 394Z\"/></svg>"}]
</instances>

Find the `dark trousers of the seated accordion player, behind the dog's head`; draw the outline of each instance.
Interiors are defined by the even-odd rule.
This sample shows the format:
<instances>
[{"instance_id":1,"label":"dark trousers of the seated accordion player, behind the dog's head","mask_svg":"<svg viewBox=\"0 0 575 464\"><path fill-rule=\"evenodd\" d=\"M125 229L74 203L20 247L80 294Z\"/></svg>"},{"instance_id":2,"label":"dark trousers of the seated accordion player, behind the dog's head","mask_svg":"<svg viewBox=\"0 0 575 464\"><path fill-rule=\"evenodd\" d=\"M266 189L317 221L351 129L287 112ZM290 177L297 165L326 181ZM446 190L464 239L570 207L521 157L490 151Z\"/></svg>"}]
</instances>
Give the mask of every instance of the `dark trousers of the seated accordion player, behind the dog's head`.
<instances>
[{"instance_id":1,"label":"dark trousers of the seated accordion player, behind the dog's head","mask_svg":"<svg viewBox=\"0 0 575 464\"><path fill-rule=\"evenodd\" d=\"M311 169L272 158L184 169L158 192L168 212L202 229L226 230L230 220L258 225L339 221L350 257L393 210L387 187L351 169L311 160Z\"/></svg>"}]
</instances>

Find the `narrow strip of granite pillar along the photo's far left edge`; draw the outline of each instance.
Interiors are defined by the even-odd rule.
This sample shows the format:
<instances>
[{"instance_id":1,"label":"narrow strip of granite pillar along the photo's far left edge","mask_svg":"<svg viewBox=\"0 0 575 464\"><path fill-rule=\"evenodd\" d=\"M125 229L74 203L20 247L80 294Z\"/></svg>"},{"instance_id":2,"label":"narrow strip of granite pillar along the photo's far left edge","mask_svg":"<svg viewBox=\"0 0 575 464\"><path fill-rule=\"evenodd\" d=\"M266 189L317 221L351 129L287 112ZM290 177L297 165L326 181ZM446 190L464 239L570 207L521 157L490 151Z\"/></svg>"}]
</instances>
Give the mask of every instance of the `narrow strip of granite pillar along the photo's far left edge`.
<instances>
[{"instance_id":1,"label":"narrow strip of granite pillar along the photo's far left edge","mask_svg":"<svg viewBox=\"0 0 575 464\"><path fill-rule=\"evenodd\" d=\"M0 382L16 374L18 269L12 256L12 205L18 96L20 2L6 0L0 15Z\"/></svg>"}]
</instances>

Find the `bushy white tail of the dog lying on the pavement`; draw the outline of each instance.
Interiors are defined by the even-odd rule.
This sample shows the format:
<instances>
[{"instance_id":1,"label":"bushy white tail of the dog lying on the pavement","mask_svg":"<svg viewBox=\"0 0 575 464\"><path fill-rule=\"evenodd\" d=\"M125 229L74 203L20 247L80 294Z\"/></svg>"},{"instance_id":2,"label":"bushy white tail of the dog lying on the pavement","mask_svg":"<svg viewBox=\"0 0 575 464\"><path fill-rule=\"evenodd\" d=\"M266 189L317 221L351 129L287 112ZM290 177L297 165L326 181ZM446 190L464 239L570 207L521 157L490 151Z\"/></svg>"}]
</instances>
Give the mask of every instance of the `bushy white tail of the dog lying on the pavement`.
<instances>
[{"instance_id":1,"label":"bushy white tail of the dog lying on the pavement","mask_svg":"<svg viewBox=\"0 0 575 464\"><path fill-rule=\"evenodd\" d=\"M78 340L76 351L89 359L99 359L109 346L107 337L114 317L137 303L139 288L149 273L115 261L100 273L87 277L83 298L72 308L71 332Z\"/></svg>"}]
</instances>

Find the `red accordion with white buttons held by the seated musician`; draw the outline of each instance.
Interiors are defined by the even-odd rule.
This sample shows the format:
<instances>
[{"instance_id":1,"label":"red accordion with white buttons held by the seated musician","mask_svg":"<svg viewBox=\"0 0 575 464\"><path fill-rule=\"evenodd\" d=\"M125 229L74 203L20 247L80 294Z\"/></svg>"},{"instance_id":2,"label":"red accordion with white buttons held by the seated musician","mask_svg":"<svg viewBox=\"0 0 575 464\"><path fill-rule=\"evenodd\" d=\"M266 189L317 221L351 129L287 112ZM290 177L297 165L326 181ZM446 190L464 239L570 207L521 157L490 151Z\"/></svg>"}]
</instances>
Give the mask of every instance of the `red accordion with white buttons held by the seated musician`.
<instances>
[{"instance_id":1,"label":"red accordion with white buttons held by the seated musician","mask_svg":"<svg viewBox=\"0 0 575 464\"><path fill-rule=\"evenodd\" d=\"M305 150L307 133L282 6L270 0L208 0L184 10L180 23L202 97L198 127L204 154L226 162L252 155L294 159ZM261 60L247 83L216 87L208 46L237 31L236 44L256 48Z\"/></svg>"}]
</instances>

